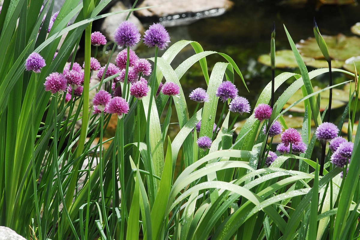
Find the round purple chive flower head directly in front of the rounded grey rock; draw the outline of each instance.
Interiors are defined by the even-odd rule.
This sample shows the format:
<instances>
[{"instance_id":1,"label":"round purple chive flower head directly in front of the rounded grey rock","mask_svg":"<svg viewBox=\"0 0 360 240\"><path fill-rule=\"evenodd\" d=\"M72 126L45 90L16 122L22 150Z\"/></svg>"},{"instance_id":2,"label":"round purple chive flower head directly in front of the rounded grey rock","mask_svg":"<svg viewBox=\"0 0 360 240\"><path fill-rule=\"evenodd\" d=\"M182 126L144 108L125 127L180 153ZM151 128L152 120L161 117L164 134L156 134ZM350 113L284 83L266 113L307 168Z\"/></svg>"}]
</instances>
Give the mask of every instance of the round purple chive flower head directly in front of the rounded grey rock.
<instances>
[{"instance_id":1,"label":"round purple chive flower head directly in front of the rounded grey rock","mask_svg":"<svg viewBox=\"0 0 360 240\"><path fill-rule=\"evenodd\" d=\"M114 41L120 46L134 47L140 41L139 30L134 23L124 21L115 30Z\"/></svg>"}]
</instances>

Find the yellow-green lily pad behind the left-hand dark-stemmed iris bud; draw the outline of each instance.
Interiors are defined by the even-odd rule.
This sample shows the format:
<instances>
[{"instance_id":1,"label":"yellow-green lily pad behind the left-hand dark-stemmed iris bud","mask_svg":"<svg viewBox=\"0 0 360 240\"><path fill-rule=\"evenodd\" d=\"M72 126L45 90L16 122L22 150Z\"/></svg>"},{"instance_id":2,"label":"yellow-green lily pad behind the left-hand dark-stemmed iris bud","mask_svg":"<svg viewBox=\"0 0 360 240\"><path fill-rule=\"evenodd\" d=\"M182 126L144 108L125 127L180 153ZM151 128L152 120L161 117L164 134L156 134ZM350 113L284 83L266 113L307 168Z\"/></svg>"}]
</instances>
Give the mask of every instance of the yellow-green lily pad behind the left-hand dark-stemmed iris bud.
<instances>
[{"instance_id":1,"label":"yellow-green lily pad behind the left-hand dark-stemmed iris bud","mask_svg":"<svg viewBox=\"0 0 360 240\"><path fill-rule=\"evenodd\" d=\"M312 58L310 57L302 57L305 61L311 61ZM264 54L257 58L257 61L266 65L270 66L270 54ZM294 53L291 50L280 50L275 51L275 65L278 68L295 68L298 67Z\"/></svg>"}]
</instances>

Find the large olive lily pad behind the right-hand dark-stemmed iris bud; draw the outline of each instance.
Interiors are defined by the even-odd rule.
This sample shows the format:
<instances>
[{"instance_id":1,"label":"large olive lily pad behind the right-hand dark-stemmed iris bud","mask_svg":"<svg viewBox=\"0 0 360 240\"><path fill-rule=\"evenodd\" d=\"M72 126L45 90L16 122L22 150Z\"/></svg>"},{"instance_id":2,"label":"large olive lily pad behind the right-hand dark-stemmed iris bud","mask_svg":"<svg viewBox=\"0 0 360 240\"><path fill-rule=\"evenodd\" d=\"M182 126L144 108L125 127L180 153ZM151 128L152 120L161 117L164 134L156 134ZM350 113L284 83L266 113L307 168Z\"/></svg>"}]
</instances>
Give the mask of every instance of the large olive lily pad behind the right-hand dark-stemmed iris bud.
<instances>
[{"instance_id":1,"label":"large olive lily pad behind the right-hand dark-stemmed iris bud","mask_svg":"<svg viewBox=\"0 0 360 240\"><path fill-rule=\"evenodd\" d=\"M329 54L332 59L345 61L353 56L360 56L360 38L347 37L343 34L337 36L323 36L328 46ZM312 57L315 59L323 58L318 43L315 38L301 40L296 44L302 56Z\"/></svg>"}]
</instances>

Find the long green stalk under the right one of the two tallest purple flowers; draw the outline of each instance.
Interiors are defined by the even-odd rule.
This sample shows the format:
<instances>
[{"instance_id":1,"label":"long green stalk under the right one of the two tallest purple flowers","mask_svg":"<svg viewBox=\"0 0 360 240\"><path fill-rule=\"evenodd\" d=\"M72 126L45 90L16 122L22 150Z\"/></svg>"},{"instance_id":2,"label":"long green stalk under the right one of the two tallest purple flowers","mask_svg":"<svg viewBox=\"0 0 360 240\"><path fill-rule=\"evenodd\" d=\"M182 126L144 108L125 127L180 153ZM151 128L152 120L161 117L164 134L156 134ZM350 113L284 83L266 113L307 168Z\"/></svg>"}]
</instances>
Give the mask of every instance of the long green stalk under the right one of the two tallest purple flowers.
<instances>
[{"instance_id":1,"label":"long green stalk under the right one of the two tallest purple flowers","mask_svg":"<svg viewBox=\"0 0 360 240\"><path fill-rule=\"evenodd\" d=\"M155 200L155 189L154 189L154 178L153 178L153 170L151 164L151 151L150 151L150 116L151 116L151 106L153 103L154 98L154 88L155 88L155 81L156 81L156 65L157 65L157 55L158 55L159 48L155 47L155 57L154 57L154 71L151 79L151 94L149 99L149 108L148 108L148 116L147 116L147 123L146 123L146 140L147 140L147 155L148 155L148 166L149 166L149 173L150 173L150 191L149 191L149 199L150 199L150 206L154 204Z\"/></svg>"}]
</instances>

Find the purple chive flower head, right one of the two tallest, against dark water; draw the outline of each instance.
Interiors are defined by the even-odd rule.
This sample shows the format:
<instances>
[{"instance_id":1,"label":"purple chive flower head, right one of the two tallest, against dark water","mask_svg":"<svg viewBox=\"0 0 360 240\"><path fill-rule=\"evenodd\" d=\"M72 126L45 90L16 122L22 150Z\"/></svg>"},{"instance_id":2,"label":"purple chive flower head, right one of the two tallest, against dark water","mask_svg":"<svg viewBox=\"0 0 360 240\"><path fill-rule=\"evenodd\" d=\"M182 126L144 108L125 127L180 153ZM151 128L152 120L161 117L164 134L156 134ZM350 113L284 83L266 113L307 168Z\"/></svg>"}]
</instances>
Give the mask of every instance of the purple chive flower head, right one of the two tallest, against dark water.
<instances>
[{"instance_id":1,"label":"purple chive flower head, right one of the two tallest, against dark water","mask_svg":"<svg viewBox=\"0 0 360 240\"><path fill-rule=\"evenodd\" d=\"M170 36L163 25L154 23L145 31L144 43L149 47L158 47L160 50L165 49L170 42Z\"/></svg>"}]
</instances>

